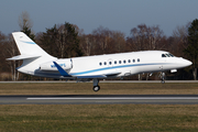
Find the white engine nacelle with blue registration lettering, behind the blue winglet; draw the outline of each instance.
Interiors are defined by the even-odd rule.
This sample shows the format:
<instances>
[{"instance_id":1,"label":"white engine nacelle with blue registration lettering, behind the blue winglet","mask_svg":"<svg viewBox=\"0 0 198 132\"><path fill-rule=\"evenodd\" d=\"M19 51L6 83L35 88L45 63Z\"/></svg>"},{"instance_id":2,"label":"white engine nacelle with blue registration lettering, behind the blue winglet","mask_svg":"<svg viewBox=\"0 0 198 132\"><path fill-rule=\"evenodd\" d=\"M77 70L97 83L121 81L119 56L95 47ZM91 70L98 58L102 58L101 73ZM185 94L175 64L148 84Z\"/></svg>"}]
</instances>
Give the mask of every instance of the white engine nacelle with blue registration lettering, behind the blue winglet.
<instances>
[{"instance_id":1,"label":"white engine nacelle with blue registration lettering, behind the blue winglet","mask_svg":"<svg viewBox=\"0 0 198 132\"><path fill-rule=\"evenodd\" d=\"M56 62L63 69L68 70L73 68L73 61L69 58L57 59ZM40 70L58 70L53 62L44 63L40 65Z\"/></svg>"}]
</instances>

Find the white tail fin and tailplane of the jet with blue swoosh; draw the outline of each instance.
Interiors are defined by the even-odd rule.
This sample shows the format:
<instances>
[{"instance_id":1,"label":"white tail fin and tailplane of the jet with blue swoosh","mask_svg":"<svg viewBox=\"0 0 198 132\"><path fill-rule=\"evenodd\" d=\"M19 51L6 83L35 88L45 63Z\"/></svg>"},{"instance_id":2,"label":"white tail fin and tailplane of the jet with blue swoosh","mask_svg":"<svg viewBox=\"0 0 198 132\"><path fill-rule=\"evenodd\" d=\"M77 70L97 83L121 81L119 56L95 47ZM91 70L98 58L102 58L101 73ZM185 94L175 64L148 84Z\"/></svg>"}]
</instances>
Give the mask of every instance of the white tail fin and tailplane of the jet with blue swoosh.
<instances>
[{"instance_id":1,"label":"white tail fin and tailplane of the jet with blue swoosh","mask_svg":"<svg viewBox=\"0 0 198 132\"><path fill-rule=\"evenodd\" d=\"M57 59L56 57L48 55L23 32L13 32L12 35L21 55L7 58L7 61L22 59L23 64L18 70L22 73L28 73L28 70L33 72L38 68L41 63Z\"/></svg>"}]
</instances>

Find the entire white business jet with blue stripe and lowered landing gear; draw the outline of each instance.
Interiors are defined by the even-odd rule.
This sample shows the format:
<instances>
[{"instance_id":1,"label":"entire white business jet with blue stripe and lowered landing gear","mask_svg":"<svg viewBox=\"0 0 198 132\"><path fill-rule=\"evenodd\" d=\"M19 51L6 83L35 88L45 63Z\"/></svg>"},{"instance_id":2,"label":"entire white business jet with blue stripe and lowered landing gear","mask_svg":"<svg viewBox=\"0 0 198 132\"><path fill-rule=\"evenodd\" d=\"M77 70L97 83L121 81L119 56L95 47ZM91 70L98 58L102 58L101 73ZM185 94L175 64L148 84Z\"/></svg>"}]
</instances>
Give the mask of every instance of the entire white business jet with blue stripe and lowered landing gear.
<instances>
[{"instance_id":1,"label":"entire white business jet with blue stripe and lowered landing gear","mask_svg":"<svg viewBox=\"0 0 198 132\"><path fill-rule=\"evenodd\" d=\"M143 51L119 54L57 58L47 54L23 32L12 33L21 55L8 61L23 61L20 73L51 78L94 80L94 91L100 90L99 79L125 77L141 73L177 72L191 62L165 51Z\"/></svg>"}]
</instances>

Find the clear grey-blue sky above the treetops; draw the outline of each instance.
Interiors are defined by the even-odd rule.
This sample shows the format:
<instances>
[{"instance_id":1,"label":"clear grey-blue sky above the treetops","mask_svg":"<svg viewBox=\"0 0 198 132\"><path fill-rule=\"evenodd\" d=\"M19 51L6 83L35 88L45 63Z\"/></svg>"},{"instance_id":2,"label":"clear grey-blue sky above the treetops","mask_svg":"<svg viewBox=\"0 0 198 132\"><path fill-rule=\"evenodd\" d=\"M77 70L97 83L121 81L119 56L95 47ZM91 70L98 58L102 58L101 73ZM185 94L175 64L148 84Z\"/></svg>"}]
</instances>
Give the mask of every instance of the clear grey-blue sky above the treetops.
<instances>
[{"instance_id":1,"label":"clear grey-blue sky above the treetops","mask_svg":"<svg viewBox=\"0 0 198 132\"><path fill-rule=\"evenodd\" d=\"M197 6L198 0L1 0L0 31L20 31L19 15L26 11L35 33L69 22L85 34L101 25L130 36L131 29L146 24L160 25L170 36L177 26L198 19Z\"/></svg>"}]
</instances>

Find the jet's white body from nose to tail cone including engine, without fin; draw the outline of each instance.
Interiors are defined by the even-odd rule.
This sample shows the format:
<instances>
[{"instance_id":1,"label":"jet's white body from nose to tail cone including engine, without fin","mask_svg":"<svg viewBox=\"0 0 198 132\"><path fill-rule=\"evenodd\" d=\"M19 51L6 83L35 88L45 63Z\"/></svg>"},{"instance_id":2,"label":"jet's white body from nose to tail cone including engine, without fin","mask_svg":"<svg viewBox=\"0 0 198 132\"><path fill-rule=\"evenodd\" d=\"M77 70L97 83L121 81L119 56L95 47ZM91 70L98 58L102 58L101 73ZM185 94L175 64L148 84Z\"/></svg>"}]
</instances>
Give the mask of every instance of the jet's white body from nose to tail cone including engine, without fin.
<instances>
[{"instance_id":1,"label":"jet's white body from nose to tail cone including engine, without fin","mask_svg":"<svg viewBox=\"0 0 198 132\"><path fill-rule=\"evenodd\" d=\"M163 56L163 54L165 56ZM154 73L178 69L191 65L191 62L182 57L173 57L169 55L169 53L164 51L144 51L65 59L53 58L46 63L41 63L37 61L36 64L34 63L34 67L36 68L32 72L30 72L31 68L29 67L21 67L18 70L25 74L33 73L35 76L68 78L63 77L58 73L53 62L59 64L62 68L73 77L81 76L82 78L86 76L97 75L112 75L107 77L122 77L139 73ZM29 72L23 69L28 69Z\"/></svg>"}]
</instances>

